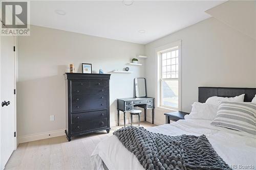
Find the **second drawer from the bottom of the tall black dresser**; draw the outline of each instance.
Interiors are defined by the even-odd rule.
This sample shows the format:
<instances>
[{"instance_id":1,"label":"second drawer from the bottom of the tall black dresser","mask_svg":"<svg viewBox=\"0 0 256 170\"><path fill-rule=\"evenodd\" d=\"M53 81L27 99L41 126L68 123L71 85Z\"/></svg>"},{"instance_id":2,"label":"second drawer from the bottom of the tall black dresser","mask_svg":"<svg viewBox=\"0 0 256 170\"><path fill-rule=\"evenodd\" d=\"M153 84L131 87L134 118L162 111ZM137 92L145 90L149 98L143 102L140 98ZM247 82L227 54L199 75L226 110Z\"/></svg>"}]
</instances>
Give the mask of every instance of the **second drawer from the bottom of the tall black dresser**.
<instances>
[{"instance_id":1,"label":"second drawer from the bottom of the tall black dresser","mask_svg":"<svg viewBox=\"0 0 256 170\"><path fill-rule=\"evenodd\" d=\"M90 120L98 120L107 118L106 110L100 111L92 111L92 112L84 112L84 113L75 113L72 114L72 123L80 123L80 122L89 122Z\"/></svg>"}]
</instances>

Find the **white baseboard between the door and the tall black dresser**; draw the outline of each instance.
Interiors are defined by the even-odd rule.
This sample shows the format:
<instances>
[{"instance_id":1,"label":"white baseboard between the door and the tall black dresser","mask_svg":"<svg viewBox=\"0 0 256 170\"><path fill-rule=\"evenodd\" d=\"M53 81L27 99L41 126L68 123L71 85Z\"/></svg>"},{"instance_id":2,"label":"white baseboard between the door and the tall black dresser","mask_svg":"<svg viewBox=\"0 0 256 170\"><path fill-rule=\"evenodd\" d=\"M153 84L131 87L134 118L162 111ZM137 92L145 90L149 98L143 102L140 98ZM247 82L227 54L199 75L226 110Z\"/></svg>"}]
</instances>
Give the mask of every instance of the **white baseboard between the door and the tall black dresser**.
<instances>
[{"instance_id":1,"label":"white baseboard between the door and the tall black dresser","mask_svg":"<svg viewBox=\"0 0 256 170\"><path fill-rule=\"evenodd\" d=\"M32 134L32 135L19 136L18 142L24 143L24 142L40 140L40 139L47 139L47 138L63 136L63 135L65 135L65 129L50 131L50 132L45 132L45 133L37 133L37 134Z\"/></svg>"}]
</instances>

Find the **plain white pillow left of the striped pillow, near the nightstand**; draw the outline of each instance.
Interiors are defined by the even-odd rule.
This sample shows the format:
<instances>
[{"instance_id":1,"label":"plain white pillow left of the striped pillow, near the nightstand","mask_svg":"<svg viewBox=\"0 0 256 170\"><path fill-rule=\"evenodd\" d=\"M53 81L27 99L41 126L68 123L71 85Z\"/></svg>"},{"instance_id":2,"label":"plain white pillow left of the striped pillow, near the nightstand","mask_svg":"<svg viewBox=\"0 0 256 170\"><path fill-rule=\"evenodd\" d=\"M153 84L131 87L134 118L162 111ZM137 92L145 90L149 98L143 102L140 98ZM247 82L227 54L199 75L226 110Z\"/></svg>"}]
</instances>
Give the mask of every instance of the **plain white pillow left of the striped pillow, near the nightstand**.
<instances>
[{"instance_id":1,"label":"plain white pillow left of the striped pillow, near the nightstand","mask_svg":"<svg viewBox=\"0 0 256 170\"><path fill-rule=\"evenodd\" d=\"M207 119L213 120L215 119L218 111L218 106L195 102L192 105L192 110L189 114L185 115L185 119L187 118L195 118L195 119Z\"/></svg>"}]
</instances>

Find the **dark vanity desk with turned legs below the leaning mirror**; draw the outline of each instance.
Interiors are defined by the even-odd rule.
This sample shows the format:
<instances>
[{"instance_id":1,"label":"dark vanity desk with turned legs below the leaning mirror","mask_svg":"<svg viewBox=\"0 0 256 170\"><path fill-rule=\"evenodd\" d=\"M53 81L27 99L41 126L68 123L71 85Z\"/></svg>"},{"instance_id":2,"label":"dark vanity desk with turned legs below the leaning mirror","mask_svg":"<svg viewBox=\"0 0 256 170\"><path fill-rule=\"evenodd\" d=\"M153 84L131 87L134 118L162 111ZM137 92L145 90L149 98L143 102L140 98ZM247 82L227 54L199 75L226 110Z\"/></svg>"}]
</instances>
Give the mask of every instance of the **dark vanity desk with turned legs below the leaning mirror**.
<instances>
[{"instance_id":1,"label":"dark vanity desk with turned legs below the leaning mirror","mask_svg":"<svg viewBox=\"0 0 256 170\"><path fill-rule=\"evenodd\" d=\"M125 112L129 112L134 109L134 107L140 107L144 109L144 120L146 121L146 109L152 109L152 124L154 124L154 108L155 108L154 98L123 98L117 99L117 125L119 126L119 112L123 112L123 121L125 127Z\"/></svg>"}]
</instances>

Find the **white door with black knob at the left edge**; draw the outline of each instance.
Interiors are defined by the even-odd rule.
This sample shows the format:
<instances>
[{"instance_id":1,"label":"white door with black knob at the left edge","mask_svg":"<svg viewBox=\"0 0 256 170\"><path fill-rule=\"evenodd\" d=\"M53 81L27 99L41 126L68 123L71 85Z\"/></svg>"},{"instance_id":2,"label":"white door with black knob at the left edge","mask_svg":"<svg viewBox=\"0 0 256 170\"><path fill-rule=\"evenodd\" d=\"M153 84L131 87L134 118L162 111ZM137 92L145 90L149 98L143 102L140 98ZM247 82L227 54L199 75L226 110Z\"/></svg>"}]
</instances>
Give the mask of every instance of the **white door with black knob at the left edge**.
<instances>
[{"instance_id":1,"label":"white door with black knob at the left edge","mask_svg":"<svg viewBox=\"0 0 256 170\"><path fill-rule=\"evenodd\" d=\"M15 64L14 64L14 37L1 36L1 169L6 165L15 149ZM2 102L7 104L2 106Z\"/></svg>"}]
</instances>

